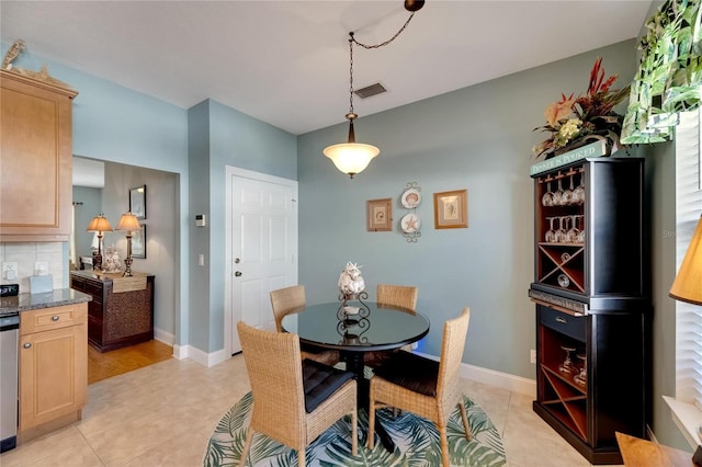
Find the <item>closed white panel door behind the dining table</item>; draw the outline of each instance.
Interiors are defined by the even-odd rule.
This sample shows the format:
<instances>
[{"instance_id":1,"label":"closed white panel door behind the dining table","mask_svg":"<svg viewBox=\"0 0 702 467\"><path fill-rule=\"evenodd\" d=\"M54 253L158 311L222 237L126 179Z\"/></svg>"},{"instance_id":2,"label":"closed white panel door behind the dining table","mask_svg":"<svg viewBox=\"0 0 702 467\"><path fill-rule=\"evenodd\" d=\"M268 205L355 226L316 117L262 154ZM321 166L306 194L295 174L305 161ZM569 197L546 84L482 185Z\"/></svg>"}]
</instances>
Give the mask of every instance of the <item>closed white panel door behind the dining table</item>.
<instances>
[{"instance_id":1,"label":"closed white panel door behind the dining table","mask_svg":"<svg viewBox=\"0 0 702 467\"><path fill-rule=\"evenodd\" d=\"M241 351L236 323L275 329L269 293L297 284L297 182L227 168L227 202L225 320L234 354Z\"/></svg>"}]
</instances>

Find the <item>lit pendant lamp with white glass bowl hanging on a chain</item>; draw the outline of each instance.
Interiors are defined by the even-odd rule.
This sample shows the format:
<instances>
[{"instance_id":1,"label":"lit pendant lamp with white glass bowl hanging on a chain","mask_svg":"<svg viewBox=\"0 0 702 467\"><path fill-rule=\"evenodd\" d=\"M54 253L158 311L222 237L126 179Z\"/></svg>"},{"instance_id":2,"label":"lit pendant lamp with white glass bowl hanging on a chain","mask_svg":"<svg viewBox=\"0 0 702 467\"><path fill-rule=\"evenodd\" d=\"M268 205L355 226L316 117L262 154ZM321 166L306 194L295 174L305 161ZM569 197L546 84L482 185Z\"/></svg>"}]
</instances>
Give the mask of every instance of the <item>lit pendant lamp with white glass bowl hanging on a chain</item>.
<instances>
[{"instance_id":1,"label":"lit pendant lamp with white glass bowl hanging on a chain","mask_svg":"<svg viewBox=\"0 0 702 467\"><path fill-rule=\"evenodd\" d=\"M328 146L325 148L324 153L331 159L337 169L347 173L352 179L353 175L362 172L366 167L369 167L369 163L371 163L371 160L373 160L374 157L381 153L381 150L373 145L355 143L353 121L356 119L359 115L353 111L353 44L358 44L363 48L380 48L392 43L403 31L405 31L405 27L409 24L415 12L419 11L423 5L423 0L405 0L405 9L411 14L403 27L400 27L393 37L384 43L376 45L362 44L355 39L353 32L349 33L349 113L346 114L346 118L349 121L349 137L347 143Z\"/></svg>"}]
</instances>

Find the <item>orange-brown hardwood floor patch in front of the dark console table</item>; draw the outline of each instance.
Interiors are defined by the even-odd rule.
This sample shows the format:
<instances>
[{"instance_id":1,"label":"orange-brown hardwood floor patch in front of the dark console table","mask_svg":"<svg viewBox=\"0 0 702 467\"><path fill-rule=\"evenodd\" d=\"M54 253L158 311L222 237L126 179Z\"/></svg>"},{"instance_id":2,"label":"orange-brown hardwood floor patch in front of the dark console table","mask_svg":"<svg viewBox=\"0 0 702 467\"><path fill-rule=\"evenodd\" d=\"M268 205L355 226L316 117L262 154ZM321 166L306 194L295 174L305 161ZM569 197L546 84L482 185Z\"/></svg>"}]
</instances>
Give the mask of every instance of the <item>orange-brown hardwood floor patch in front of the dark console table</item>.
<instances>
[{"instance_id":1,"label":"orange-brown hardwood floor patch in front of the dark console table","mask_svg":"<svg viewBox=\"0 0 702 467\"><path fill-rule=\"evenodd\" d=\"M173 356L173 348L151 340L124 349L100 353L88 345L88 384L132 372Z\"/></svg>"}]
</instances>

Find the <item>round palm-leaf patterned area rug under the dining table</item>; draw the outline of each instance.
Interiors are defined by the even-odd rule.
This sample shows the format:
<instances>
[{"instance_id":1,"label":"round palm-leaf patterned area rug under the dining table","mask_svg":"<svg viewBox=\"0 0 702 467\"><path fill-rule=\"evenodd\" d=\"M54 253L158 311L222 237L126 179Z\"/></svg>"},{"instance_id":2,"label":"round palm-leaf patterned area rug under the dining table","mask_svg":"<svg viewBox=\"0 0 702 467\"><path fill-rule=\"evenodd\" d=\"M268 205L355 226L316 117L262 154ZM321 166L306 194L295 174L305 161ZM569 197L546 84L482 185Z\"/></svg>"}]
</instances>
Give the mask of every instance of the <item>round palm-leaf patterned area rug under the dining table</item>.
<instances>
[{"instance_id":1,"label":"round palm-leaf patterned area rug under the dining table","mask_svg":"<svg viewBox=\"0 0 702 467\"><path fill-rule=\"evenodd\" d=\"M468 397L463 401L473 433L465 438L458 408L453 411L446 429L452 466L506 466L507 456L500 435L485 411ZM251 418L253 398L247 394L217 424L204 453L203 465L238 466L241 449ZM351 455L351 418L340 419L307 446L307 465L331 466L427 466L441 465L439 432L432 422L421 417L401 412L393 417L392 409L377 411L376 418L395 442L395 452L387 452L376 442L373 451L365 447L367 438L367 414L359 411L359 451ZM376 435L377 436L377 435ZM376 438L377 441L377 438ZM297 452L254 433L247 466L267 467L297 466Z\"/></svg>"}]
</instances>

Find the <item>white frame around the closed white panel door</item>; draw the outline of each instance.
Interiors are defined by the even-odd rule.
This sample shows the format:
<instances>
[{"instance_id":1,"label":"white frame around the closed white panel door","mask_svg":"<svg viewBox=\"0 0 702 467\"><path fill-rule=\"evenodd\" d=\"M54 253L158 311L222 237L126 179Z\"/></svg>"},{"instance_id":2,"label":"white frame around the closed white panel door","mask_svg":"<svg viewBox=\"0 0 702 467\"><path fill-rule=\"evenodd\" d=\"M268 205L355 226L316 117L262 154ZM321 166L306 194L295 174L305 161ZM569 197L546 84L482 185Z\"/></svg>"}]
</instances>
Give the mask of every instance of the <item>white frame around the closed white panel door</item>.
<instances>
[{"instance_id":1,"label":"white frame around the closed white panel door","mask_svg":"<svg viewBox=\"0 0 702 467\"><path fill-rule=\"evenodd\" d=\"M227 352L227 358L231 356L231 345L234 335L234 310L231 309L231 276L234 270L234 260L231 258L231 193L233 193L233 176L239 176L242 179L250 179L259 182L275 183L280 185L286 185L294 190L297 194L297 181L292 179L284 179L282 176L270 175L268 173L256 172L247 169L239 169L238 167L225 166L225 280L224 280L224 349ZM296 225L298 225L296 223ZM299 228L299 227L297 227ZM297 237L297 231L295 236ZM295 250L295 258L297 258L297 249ZM299 261L297 261L299 264ZM297 276L297 272L295 272Z\"/></svg>"}]
</instances>

